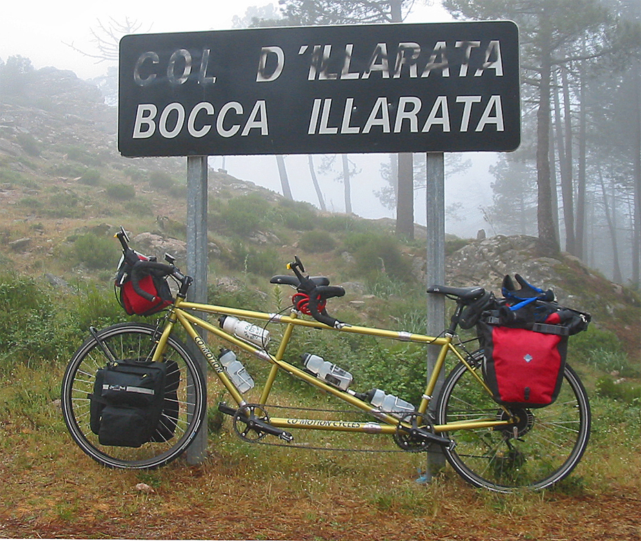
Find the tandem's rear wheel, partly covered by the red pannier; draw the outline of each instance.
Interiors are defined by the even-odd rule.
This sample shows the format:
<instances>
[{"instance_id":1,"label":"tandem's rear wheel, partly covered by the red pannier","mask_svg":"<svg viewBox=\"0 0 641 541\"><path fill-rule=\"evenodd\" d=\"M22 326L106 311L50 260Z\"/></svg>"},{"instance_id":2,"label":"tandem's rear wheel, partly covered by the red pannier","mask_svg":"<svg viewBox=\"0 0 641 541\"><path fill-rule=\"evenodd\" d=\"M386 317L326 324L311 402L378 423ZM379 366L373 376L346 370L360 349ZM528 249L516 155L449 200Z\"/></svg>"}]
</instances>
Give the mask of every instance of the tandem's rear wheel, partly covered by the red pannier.
<instances>
[{"instance_id":1,"label":"tandem's rear wheel, partly covered by the red pannier","mask_svg":"<svg viewBox=\"0 0 641 541\"><path fill-rule=\"evenodd\" d=\"M518 438L515 427L442 433L456 442L454 449L444 449L449 464L475 487L503 493L541 490L566 478L581 460L590 436L589 399L576 372L566 365L552 405L513 413L522 419L516 426ZM500 416L505 417L503 410L459 363L443 383L436 424Z\"/></svg>"}]
</instances>

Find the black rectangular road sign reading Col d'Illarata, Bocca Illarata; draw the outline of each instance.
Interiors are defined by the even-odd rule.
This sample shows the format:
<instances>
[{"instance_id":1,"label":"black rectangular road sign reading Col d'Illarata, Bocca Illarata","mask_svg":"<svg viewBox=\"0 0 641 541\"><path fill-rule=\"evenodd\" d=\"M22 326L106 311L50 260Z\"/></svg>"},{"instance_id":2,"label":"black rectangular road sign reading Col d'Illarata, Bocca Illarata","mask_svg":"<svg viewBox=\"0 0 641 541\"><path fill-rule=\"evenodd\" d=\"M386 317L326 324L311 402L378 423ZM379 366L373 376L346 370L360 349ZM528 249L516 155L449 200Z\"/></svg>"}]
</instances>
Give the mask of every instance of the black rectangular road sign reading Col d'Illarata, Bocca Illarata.
<instances>
[{"instance_id":1,"label":"black rectangular road sign reading Col d'Illarata, Bocca Illarata","mask_svg":"<svg viewBox=\"0 0 641 541\"><path fill-rule=\"evenodd\" d=\"M124 156L509 151L511 21L136 34L120 43Z\"/></svg>"}]
</instances>

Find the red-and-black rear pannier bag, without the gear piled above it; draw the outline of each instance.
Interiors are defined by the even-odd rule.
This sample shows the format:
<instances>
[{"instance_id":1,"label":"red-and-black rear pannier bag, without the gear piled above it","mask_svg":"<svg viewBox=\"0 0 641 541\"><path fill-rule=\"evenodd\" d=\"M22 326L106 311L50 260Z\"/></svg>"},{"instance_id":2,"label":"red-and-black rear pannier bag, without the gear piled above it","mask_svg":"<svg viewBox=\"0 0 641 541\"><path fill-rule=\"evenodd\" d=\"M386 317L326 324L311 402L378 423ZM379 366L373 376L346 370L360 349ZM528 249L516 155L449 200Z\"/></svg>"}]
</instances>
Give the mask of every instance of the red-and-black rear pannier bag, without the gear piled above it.
<instances>
[{"instance_id":1,"label":"red-and-black rear pannier bag, without the gear piled above it","mask_svg":"<svg viewBox=\"0 0 641 541\"><path fill-rule=\"evenodd\" d=\"M567 357L567 328L534 324L531 330L480 321L478 330L485 355L483 377L498 404L538 408L556 400Z\"/></svg>"}]
</instances>

